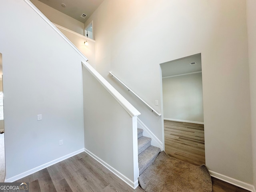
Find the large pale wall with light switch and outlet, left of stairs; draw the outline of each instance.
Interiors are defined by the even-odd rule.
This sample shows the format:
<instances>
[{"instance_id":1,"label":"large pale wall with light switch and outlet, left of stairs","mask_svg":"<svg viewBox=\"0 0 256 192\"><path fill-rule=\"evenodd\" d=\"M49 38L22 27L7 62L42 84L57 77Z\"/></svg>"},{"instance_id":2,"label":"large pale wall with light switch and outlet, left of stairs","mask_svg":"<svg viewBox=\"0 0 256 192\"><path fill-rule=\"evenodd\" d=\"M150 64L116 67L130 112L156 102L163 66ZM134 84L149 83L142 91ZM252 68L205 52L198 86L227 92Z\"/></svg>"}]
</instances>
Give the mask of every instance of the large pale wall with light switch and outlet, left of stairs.
<instances>
[{"instance_id":1,"label":"large pale wall with light switch and outlet, left of stairs","mask_svg":"<svg viewBox=\"0 0 256 192\"><path fill-rule=\"evenodd\" d=\"M8 180L84 148L84 59L25 1L0 4Z\"/></svg>"}]
</instances>

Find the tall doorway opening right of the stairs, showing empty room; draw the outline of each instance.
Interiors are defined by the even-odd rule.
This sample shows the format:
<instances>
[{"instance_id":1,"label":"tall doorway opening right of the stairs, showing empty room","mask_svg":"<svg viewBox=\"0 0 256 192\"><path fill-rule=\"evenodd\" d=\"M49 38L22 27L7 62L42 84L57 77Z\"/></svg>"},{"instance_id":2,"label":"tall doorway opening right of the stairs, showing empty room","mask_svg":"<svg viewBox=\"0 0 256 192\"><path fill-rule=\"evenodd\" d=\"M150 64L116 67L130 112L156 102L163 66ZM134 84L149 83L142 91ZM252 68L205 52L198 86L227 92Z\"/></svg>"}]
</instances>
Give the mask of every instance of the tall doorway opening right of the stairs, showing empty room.
<instances>
[{"instance_id":1,"label":"tall doorway opening right of the stairs, showing empty room","mask_svg":"<svg viewBox=\"0 0 256 192\"><path fill-rule=\"evenodd\" d=\"M160 64L165 152L205 164L201 54Z\"/></svg>"}]
</instances>

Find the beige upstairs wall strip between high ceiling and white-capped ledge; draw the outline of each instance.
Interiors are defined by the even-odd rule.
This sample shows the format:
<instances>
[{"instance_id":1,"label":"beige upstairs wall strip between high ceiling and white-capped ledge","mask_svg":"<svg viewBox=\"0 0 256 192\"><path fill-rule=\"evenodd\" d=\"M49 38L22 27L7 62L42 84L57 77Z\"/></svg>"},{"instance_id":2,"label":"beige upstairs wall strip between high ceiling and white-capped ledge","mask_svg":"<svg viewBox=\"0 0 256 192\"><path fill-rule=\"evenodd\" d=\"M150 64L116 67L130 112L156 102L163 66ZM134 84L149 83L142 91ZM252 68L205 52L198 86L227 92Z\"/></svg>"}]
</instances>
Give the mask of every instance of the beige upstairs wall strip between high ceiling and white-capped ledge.
<instances>
[{"instance_id":1,"label":"beige upstairs wall strip between high ceiling and white-capped ledge","mask_svg":"<svg viewBox=\"0 0 256 192\"><path fill-rule=\"evenodd\" d=\"M84 23L38 1L30 0L51 22L84 35Z\"/></svg>"}]
</instances>

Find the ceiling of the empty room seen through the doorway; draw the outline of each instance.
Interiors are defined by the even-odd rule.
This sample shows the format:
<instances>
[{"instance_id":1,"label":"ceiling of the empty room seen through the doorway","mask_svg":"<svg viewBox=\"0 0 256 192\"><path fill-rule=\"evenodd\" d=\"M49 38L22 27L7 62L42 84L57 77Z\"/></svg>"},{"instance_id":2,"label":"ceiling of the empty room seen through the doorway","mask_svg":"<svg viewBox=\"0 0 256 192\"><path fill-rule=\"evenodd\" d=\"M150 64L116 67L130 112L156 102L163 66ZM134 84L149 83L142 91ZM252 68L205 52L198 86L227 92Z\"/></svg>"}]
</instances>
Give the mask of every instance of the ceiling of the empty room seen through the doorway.
<instances>
[{"instance_id":1,"label":"ceiling of the empty room seen through the doorway","mask_svg":"<svg viewBox=\"0 0 256 192\"><path fill-rule=\"evenodd\" d=\"M190 65L191 62L196 62ZM201 54L196 54L161 64L162 77L202 71Z\"/></svg>"}]
</instances>

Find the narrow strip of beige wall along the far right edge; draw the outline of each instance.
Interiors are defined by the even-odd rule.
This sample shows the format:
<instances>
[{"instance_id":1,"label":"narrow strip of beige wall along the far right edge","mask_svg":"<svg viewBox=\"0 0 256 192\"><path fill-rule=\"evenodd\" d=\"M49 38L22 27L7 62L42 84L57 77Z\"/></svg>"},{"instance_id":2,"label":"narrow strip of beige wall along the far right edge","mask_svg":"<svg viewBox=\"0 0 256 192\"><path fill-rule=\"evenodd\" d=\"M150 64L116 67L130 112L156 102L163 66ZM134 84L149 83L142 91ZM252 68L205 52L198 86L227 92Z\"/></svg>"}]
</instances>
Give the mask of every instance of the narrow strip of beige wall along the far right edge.
<instances>
[{"instance_id":1,"label":"narrow strip of beige wall along the far right edge","mask_svg":"<svg viewBox=\"0 0 256 192\"><path fill-rule=\"evenodd\" d=\"M252 156L254 187L256 188L256 1L247 0L248 56L250 68Z\"/></svg>"}]
</instances>

